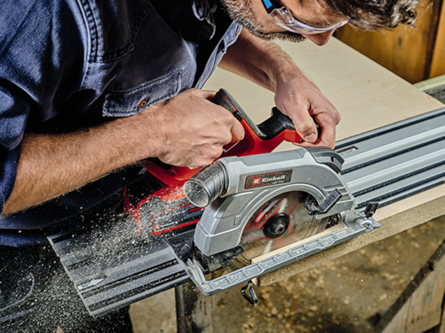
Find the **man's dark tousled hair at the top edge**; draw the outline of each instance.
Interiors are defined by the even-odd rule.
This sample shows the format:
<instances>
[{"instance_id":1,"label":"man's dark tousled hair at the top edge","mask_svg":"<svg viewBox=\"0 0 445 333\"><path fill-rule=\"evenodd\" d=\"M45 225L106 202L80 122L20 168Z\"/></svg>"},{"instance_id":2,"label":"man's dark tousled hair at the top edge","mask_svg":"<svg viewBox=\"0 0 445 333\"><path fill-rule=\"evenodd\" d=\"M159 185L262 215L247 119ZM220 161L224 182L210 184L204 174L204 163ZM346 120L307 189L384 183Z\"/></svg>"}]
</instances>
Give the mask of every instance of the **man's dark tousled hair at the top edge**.
<instances>
[{"instance_id":1,"label":"man's dark tousled hair at the top edge","mask_svg":"<svg viewBox=\"0 0 445 333\"><path fill-rule=\"evenodd\" d=\"M391 29L398 24L413 25L419 0L319 0L332 11L346 16L361 30Z\"/></svg>"}]
</instances>

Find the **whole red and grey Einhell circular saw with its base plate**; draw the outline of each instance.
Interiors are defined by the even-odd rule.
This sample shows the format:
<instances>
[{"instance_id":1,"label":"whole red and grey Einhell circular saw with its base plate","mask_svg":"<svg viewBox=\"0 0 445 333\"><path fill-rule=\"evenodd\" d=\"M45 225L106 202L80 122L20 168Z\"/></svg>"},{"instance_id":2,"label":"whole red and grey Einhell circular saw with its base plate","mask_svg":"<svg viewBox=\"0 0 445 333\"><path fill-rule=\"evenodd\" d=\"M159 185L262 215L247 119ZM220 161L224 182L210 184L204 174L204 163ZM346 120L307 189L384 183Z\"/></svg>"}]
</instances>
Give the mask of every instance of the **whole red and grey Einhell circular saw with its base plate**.
<instances>
[{"instance_id":1,"label":"whole red and grey Einhell circular saw with its base plate","mask_svg":"<svg viewBox=\"0 0 445 333\"><path fill-rule=\"evenodd\" d=\"M224 147L221 158L199 171L147 163L150 187L158 190L138 202L129 198L131 185L124 190L125 211L138 233L151 241L174 239L179 264L202 293L249 281L380 226L372 219L376 203L354 208L340 174L344 160L335 151L271 153L283 140L302 141L276 107L255 125L224 89L212 101L242 123L245 138ZM187 234L186 255L178 245L182 234ZM226 274L206 280L206 274L223 268Z\"/></svg>"}]
</instances>

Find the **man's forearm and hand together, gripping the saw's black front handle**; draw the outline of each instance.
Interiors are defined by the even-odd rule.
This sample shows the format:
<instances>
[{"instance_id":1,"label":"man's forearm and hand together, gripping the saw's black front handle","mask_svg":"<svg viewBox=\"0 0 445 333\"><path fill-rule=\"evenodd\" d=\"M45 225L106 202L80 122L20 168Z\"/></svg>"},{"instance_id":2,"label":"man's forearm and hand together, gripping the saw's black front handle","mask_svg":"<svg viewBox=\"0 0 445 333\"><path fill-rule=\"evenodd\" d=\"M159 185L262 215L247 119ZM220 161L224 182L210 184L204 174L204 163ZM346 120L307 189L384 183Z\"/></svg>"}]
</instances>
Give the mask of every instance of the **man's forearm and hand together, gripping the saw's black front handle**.
<instances>
[{"instance_id":1,"label":"man's forearm and hand together, gripping the saw's black front handle","mask_svg":"<svg viewBox=\"0 0 445 333\"><path fill-rule=\"evenodd\" d=\"M298 145L334 148L340 114L278 47L243 29L219 66L275 92L278 109L293 120L305 140ZM321 127L319 139L312 116Z\"/></svg>"}]
</instances>

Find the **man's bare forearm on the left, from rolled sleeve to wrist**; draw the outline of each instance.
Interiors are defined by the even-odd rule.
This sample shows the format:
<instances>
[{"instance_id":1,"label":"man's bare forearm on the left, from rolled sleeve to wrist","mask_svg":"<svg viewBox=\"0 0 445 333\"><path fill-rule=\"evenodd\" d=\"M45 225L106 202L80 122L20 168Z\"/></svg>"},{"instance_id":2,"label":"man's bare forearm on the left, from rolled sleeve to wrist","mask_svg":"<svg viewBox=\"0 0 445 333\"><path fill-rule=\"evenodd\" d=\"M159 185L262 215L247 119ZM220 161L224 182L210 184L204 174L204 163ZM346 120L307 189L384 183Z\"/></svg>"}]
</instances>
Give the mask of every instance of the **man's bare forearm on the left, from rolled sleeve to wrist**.
<instances>
[{"instance_id":1,"label":"man's bare forearm on the left, from rolled sleeve to wrist","mask_svg":"<svg viewBox=\"0 0 445 333\"><path fill-rule=\"evenodd\" d=\"M69 134L25 135L15 186L2 214L34 206L142 159L134 134L128 119L117 119Z\"/></svg>"}]
</instances>

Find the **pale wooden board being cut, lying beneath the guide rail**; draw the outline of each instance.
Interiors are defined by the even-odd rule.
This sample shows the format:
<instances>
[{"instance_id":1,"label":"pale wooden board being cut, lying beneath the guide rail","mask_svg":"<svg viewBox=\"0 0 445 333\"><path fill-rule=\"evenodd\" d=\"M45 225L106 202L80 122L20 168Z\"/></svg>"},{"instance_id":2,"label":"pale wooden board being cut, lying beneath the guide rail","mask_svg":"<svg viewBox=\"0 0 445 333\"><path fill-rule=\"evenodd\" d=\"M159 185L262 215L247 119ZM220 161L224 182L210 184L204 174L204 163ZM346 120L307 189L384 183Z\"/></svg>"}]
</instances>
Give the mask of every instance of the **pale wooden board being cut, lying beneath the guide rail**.
<instances>
[{"instance_id":1,"label":"pale wooden board being cut, lying beneath the guide rail","mask_svg":"<svg viewBox=\"0 0 445 333\"><path fill-rule=\"evenodd\" d=\"M444 107L444 104L363 56L339 40L317 47L310 42L280 42L303 72L316 83L342 115L337 140ZM217 70L205 88L226 88L255 123L270 115L274 95L246 79ZM293 149L284 143L278 149ZM382 227L292 265L263 275L269 285L322 262L357 250L445 214L445 185L417 194L376 212Z\"/></svg>"}]
</instances>

